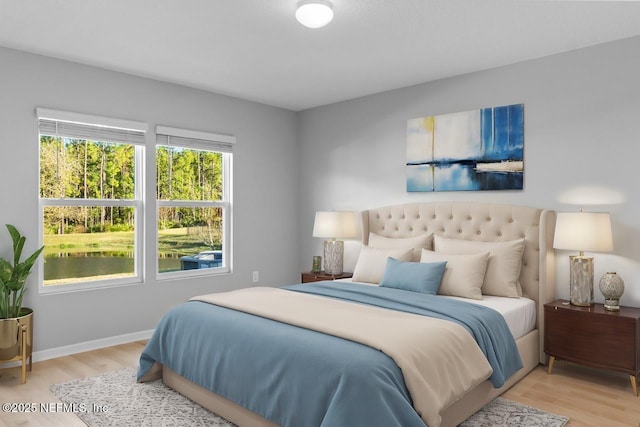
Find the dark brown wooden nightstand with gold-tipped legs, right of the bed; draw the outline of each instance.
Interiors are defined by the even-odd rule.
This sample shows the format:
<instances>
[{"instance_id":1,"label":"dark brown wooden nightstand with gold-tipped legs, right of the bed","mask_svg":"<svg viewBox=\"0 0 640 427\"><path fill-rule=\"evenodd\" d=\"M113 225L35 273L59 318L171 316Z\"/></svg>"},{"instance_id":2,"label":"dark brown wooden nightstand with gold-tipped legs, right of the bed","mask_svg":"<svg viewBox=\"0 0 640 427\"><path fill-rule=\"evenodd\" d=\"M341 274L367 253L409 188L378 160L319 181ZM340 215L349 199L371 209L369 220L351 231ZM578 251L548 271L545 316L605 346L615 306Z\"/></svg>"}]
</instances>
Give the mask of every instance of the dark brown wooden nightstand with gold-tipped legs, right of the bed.
<instances>
[{"instance_id":1,"label":"dark brown wooden nightstand with gold-tipped legs, right of the bed","mask_svg":"<svg viewBox=\"0 0 640 427\"><path fill-rule=\"evenodd\" d=\"M638 396L640 308L607 311L602 304L578 307L557 300L544 305L544 316L549 374L556 359L624 372Z\"/></svg>"}]
</instances>

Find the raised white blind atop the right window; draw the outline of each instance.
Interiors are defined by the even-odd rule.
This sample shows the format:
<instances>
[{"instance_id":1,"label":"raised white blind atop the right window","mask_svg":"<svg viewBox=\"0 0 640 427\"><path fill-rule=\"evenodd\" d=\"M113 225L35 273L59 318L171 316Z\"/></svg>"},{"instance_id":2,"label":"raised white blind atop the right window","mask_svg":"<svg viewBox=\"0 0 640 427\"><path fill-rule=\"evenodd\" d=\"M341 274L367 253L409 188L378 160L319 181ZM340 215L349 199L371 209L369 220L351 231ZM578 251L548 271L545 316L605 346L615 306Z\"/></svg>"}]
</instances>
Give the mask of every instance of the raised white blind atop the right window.
<instances>
[{"instance_id":1,"label":"raised white blind atop the right window","mask_svg":"<svg viewBox=\"0 0 640 427\"><path fill-rule=\"evenodd\" d=\"M156 126L156 143L158 145L232 153L235 142L236 137L233 135Z\"/></svg>"}]
</instances>

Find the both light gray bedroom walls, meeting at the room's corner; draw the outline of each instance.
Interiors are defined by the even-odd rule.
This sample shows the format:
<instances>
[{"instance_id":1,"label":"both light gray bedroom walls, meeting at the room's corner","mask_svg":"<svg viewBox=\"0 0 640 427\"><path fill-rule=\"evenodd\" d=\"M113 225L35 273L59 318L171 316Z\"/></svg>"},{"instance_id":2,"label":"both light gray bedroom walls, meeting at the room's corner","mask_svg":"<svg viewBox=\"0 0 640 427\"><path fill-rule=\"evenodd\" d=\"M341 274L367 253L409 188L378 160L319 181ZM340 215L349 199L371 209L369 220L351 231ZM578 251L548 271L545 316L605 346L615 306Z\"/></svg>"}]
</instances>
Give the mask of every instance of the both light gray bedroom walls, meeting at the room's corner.
<instances>
[{"instance_id":1,"label":"both light gray bedroom walls, meeting at the room's corner","mask_svg":"<svg viewBox=\"0 0 640 427\"><path fill-rule=\"evenodd\" d=\"M295 114L0 48L0 225L22 230L27 250L38 241L36 107L238 138L233 274L156 281L151 272L141 285L58 295L39 295L33 274L26 303L36 310L35 350L152 329L190 296L252 285L254 270L260 285L296 282L322 254L321 239L311 236L315 211L416 201L609 211L615 250L595 254L596 281L617 271L627 284L623 303L640 306L639 50L636 37ZM512 103L525 104L523 191L405 191L407 119ZM0 230L1 256L9 256L8 244ZM359 244L346 250L352 269ZM560 297L568 296L569 254L559 253Z\"/></svg>"}]
</instances>

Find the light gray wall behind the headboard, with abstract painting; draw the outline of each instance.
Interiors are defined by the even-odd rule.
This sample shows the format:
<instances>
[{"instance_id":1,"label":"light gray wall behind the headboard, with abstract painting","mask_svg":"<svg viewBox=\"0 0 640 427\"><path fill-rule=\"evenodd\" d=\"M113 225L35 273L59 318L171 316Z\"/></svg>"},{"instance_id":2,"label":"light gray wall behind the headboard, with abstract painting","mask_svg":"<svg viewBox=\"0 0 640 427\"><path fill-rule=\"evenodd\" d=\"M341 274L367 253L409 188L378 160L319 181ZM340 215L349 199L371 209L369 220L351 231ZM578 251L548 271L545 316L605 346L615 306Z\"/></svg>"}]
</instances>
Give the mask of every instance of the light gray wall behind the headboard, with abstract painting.
<instances>
[{"instance_id":1,"label":"light gray wall behind the headboard, with abstract painting","mask_svg":"<svg viewBox=\"0 0 640 427\"><path fill-rule=\"evenodd\" d=\"M612 215L615 250L594 254L596 300L599 278L617 271L627 285L623 304L640 306L638 52L635 37L300 113L300 268L322 254L321 239L311 236L317 210L434 200L583 207ZM407 119L515 103L525 108L523 191L405 191ZM345 247L348 270L359 245ZM558 252L564 298L570 254Z\"/></svg>"}]
</instances>

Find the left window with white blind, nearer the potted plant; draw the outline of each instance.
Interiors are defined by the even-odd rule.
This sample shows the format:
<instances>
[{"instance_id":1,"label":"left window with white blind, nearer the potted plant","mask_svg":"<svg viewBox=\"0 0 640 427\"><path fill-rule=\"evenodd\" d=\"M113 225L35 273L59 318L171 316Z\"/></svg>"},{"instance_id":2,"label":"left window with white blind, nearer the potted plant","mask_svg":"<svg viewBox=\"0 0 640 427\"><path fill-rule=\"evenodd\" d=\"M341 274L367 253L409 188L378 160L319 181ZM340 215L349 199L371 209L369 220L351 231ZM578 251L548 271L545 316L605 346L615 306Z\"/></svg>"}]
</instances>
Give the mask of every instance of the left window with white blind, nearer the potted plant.
<instances>
[{"instance_id":1,"label":"left window with white blind, nearer the potted plant","mask_svg":"<svg viewBox=\"0 0 640 427\"><path fill-rule=\"evenodd\" d=\"M142 280L145 123L37 109L43 292Z\"/></svg>"}]
</instances>

